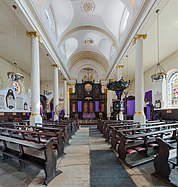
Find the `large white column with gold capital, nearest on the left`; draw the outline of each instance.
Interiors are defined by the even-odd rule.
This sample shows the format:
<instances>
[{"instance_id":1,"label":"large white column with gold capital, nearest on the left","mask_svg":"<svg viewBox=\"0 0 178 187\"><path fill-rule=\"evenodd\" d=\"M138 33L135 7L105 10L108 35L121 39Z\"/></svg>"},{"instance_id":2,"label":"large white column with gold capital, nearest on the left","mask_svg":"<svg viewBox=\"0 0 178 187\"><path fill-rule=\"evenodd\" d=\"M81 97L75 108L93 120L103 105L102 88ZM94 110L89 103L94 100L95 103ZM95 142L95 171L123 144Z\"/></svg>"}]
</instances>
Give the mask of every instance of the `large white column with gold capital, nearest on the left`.
<instances>
[{"instance_id":1,"label":"large white column with gold capital, nearest on the left","mask_svg":"<svg viewBox=\"0 0 178 187\"><path fill-rule=\"evenodd\" d=\"M39 35L37 32L27 32L32 41L32 65L31 65L31 116L30 125L42 123L40 116L40 59L39 59Z\"/></svg>"}]
</instances>

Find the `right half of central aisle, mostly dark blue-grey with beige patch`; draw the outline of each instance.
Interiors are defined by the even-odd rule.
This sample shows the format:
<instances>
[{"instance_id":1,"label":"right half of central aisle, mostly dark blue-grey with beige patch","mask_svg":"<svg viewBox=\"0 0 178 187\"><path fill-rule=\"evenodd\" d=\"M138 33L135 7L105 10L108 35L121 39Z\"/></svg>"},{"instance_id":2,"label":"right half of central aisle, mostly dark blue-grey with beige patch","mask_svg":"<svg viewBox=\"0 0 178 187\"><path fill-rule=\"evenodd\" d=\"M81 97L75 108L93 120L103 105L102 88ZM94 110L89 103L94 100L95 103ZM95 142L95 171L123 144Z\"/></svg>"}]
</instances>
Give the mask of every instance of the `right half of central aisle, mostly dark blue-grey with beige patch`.
<instances>
[{"instance_id":1,"label":"right half of central aisle, mostly dark blue-grey with beige patch","mask_svg":"<svg viewBox=\"0 0 178 187\"><path fill-rule=\"evenodd\" d=\"M109 149L96 127L90 127L90 186L135 187L132 179Z\"/></svg>"}]
</instances>

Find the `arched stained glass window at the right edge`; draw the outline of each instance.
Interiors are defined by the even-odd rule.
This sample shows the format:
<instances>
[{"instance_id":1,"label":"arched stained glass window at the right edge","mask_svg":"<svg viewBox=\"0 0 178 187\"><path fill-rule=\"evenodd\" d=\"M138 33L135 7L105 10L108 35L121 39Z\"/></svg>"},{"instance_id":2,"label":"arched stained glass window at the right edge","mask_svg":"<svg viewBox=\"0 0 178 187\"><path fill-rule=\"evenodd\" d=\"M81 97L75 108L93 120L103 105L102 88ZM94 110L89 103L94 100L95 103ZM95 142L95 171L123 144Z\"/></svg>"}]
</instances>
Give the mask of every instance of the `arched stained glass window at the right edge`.
<instances>
[{"instance_id":1,"label":"arched stained glass window at the right edge","mask_svg":"<svg viewBox=\"0 0 178 187\"><path fill-rule=\"evenodd\" d=\"M168 81L168 105L178 106L178 71L174 72Z\"/></svg>"}]
</instances>

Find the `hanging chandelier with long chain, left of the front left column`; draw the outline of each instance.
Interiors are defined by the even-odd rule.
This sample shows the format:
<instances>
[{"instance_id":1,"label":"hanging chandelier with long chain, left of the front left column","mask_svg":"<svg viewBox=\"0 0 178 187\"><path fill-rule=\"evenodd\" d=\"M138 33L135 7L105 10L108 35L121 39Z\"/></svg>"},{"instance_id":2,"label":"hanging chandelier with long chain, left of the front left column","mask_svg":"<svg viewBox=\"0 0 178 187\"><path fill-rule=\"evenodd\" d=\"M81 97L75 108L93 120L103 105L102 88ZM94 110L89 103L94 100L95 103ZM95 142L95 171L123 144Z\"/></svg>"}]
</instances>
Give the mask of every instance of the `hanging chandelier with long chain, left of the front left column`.
<instances>
[{"instance_id":1,"label":"hanging chandelier with long chain, left of the front left column","mask_svg":"<svg viewBox=\"0 0 178 187\"><path fill-rule=\"evenodd\" d=\"M17 62L15 62L16 60L16 15L15 12L17 10L17 6L13 5L12 6L14 9L14 63L12 65L12 71L7 72L7 77L9 80L11 80L12 82L16 81L22 81L24 79L24 76L21 73L18 73L18 64Z\"/></svg>"}]
</instances>

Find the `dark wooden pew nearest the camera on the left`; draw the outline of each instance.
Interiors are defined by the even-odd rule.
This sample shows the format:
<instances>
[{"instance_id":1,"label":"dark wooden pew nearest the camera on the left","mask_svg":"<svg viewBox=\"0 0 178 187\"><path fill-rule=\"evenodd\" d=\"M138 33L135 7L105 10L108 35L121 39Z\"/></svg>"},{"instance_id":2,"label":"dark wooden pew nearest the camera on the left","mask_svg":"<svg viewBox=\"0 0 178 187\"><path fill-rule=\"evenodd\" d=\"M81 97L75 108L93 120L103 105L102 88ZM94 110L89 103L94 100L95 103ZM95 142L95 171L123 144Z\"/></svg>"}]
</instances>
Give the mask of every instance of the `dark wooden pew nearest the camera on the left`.
<instances>
[{"instance_id":1,"label":"dark wooden pew nearest the camera on the left","mask_svg":"<svg viewBox=\"0 0 178 187\"><path fill-rule=\"evenodd\" d=\"M33 165L45 171L44 184L48 184L56 176L56 157L52 151L53 140L49 139L45 144L31 143L24 140L0 136L3 160L8 157L18 159L20 170L25 164ZM31 153L31 151L35 151ZM39 155L37 155L37 152Z\"/></svg>"}]
</instances>

